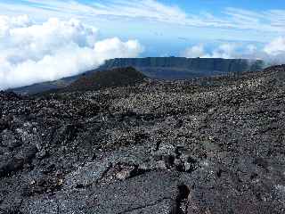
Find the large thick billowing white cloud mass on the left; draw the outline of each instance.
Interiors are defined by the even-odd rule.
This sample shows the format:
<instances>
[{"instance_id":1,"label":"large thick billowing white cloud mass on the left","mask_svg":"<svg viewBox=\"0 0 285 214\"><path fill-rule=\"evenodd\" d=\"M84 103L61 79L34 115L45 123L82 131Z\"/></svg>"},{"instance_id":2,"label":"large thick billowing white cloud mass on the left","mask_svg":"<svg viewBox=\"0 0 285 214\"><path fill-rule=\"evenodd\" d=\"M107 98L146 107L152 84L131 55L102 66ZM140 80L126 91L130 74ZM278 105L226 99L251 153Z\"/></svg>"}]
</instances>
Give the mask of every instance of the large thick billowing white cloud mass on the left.
<instances>
[{"instance_id":1,"label":"large thick billowing white cloud mass on the left","mask_svg":"<svg viewBox=\"0 0 285 214\"><path fill-rule=\"evenodd\" d=\"M136 57L142 45L117 37L97 40L97 29L80 21L0 16L0 89L76 75L116 57Z\"/></svg>"}]
</instances>

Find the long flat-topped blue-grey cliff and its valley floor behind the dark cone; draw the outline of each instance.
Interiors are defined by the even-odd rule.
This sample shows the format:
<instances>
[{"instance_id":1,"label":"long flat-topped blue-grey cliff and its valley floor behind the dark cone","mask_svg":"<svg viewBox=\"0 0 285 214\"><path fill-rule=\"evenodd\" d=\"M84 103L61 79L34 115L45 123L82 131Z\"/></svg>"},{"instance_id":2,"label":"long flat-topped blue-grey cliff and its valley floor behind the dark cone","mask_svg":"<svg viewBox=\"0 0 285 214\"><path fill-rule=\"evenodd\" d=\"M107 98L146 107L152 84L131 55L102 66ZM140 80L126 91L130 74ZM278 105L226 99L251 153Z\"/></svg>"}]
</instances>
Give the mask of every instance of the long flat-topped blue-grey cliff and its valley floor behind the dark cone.
<instances>
[{"instance_id":1,"label":"long flat-topped blue-grey cliff and its valley floor behind the dark cone","mask_svg":"<svg viewBox=\"0 0 285 214\"><path fill-rule=\"evenodd\" d=\"M133 66L151 78L198 78L247 70L262 70L262 61L183 57L120 58L106 61L99 70Z\"/></svg>"}]
</instances>

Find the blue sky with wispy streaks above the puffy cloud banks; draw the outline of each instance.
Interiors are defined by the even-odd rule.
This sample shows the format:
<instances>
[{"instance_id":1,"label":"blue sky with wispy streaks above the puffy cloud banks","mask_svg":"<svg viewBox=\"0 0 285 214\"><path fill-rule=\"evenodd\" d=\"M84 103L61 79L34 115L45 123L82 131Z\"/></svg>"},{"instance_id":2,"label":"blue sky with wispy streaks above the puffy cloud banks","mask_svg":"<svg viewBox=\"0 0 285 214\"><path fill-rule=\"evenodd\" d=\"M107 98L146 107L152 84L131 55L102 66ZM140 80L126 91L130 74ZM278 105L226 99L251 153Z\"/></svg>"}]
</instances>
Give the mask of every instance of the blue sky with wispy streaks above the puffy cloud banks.
<instances>
[{"instance_id":1,"label":"blue sky with wispy streaks above the puffy cloud banks","mask_svg":"<svg viewBox=\"0 0 285 214\"><path fill-rule=\"evenodd\" d=\"M179 55L197 44L261 46L285 33L283 0L2 0L0 11L35 21L77 18L102 38L138 39L142 56Z\"/></svg>"}]
</instances>

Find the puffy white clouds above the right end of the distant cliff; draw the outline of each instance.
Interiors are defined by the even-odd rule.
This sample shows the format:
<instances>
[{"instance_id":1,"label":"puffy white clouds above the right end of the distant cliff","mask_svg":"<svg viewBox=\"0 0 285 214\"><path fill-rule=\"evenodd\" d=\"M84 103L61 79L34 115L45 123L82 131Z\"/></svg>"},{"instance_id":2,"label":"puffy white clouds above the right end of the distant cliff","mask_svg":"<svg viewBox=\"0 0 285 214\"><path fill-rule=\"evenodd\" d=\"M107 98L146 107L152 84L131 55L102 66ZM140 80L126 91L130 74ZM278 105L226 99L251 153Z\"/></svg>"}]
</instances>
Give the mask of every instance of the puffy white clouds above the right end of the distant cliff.
<instances>
[{"instance_id":1,"label":"puffy white clouds above the right end of the distant cliff","mask_svg":"<svg viewBox=\"0 0 285 214\"><path fill-rule=\"evenodd\" d=\"M207 45L199 44L186 48L181 55L188 58L246 58L263 60L269 64L285 63L285 37L277 37L263 47L252 44L224 43L207 51Z\"/></svg>"}]
</instances>

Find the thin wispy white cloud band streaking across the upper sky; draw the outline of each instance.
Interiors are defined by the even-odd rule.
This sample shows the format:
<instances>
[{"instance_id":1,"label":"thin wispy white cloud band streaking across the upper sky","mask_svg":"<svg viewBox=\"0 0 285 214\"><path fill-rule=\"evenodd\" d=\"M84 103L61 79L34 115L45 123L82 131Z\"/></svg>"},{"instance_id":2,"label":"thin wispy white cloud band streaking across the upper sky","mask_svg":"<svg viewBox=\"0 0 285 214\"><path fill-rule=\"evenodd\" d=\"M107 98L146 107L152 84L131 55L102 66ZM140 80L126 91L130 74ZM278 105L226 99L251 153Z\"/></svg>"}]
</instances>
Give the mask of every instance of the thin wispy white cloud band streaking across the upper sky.
<instances>
[{"instance_id":1,"label":"thin wispy white cloud band streaking across the upper sky","mask_svg":"<svg viewBox=\"0 0 285 214\"><path fill-rule=\"evenodd\" d=\"M83 4L75 0L22 2L26 4L0 3L0 10L9 14L28 13L45 17L53 15L86 20L94 20L95 17L107 20L140 19L197 27L285 31L285 10L250 11L229 7L224 8L219 15L214 15L210 12L185 12L177 5L163 4L157 0L109 0L100 4Z\"/></svg>"}]
</instances>

